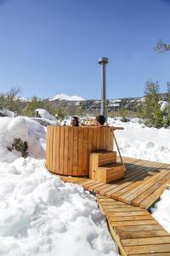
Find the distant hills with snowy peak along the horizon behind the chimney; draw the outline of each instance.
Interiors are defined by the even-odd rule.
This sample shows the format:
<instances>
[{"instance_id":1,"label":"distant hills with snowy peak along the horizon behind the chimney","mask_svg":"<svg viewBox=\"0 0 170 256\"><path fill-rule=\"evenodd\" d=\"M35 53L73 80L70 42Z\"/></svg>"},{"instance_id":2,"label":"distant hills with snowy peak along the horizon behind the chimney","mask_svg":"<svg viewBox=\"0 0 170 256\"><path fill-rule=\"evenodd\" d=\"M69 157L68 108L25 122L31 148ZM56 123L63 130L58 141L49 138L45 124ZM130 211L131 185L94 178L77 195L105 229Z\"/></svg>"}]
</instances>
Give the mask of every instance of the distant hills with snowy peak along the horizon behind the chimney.
<instances>
[{"instance_id":1,"label":"distant hills with snowy peak along the horizon behind the chimney","mask_svg":"<svg viewBox=\"0 0 170 256\"><path fill-rule=\"evenodd\" d=\"M167 100L167 94L159 95L160 101ZM27 100L29 102L30 100ZM99 99L85 100L82 96L68 96L65 94L58 94L56 96L42 99L42 102L48 102L52 108L66 108L69 114L83 114L83 113L99 113L101 101ZM144 97L127 97L119 99L107 99L106 105L108 112L116 112L119 110L127 110L138 112L142 107ZM26 98L23 101L26 104Z\"/></svg>"}]
</instances>

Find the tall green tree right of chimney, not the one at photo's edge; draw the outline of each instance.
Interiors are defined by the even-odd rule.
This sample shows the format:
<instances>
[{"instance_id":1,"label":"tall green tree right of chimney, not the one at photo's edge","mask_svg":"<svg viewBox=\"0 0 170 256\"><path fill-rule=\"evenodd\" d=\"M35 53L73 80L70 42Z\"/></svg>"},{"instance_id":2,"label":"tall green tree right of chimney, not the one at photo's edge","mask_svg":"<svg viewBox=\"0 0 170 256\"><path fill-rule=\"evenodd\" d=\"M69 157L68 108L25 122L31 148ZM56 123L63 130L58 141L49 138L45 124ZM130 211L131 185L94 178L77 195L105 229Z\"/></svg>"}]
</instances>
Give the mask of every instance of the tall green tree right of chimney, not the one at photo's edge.
<instances>
[{"instance_id":1,"label":"tall green tree right of chimney, not the one at photo's edge","mask_svg":"<svg viewBox=\"0 0 170 256\"><path fill-rule=\"evenodd\" d=\"M144 105L142 108L145 124L160 128L163 125L163 114L159 106L159 84L146 82L144 90Z\"/></svg>"}]
</instances>

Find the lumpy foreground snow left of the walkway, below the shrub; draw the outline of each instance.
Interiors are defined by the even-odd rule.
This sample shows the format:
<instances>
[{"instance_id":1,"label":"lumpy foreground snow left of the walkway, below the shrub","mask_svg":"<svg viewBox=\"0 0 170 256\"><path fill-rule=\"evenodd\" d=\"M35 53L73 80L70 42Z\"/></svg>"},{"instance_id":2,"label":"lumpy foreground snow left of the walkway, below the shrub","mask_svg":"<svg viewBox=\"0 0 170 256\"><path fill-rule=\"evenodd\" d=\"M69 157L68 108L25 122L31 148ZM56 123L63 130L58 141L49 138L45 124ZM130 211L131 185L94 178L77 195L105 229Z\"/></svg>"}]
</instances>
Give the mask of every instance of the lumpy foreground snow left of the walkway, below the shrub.
<instances>
[{"instance_id":1,"label":"lumpy foreground snow left of the walkway, below the shrub","mask_svg":"<svg viewBox=\"0 0 170 256\"><path fill-rule=\"evenodd\" d=\"M0 254L118 255L94 195L43 165L30 157L0 162Z\"/></svg>"}]
</instances>

